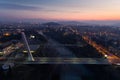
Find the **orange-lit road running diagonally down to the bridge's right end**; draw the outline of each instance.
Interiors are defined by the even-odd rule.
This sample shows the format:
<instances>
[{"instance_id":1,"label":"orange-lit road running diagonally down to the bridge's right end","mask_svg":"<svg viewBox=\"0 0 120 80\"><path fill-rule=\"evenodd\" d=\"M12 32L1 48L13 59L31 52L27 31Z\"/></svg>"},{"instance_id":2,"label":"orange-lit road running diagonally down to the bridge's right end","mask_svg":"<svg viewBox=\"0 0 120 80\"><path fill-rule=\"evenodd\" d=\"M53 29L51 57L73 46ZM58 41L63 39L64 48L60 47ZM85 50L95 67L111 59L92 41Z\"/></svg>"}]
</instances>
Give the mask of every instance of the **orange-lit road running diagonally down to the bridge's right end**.
<instances>
[{"instance_id":1,"label":"orange-lit road running diagonally down to the bridge's right end","mask_svg":"<svg viewBox=\"0 0 120 80\"><path fill-rule=\"evenodd\" d=\"M96 44L94 41L92 41L88 36L82 36L82 38L91 46L93 46L99 53L104 55L109 63L111 64L118 64L120 63L120 58L113 55L111 52L109 52L107 49L105 49L103 46Z\"/></svg>"}]
</instances>

